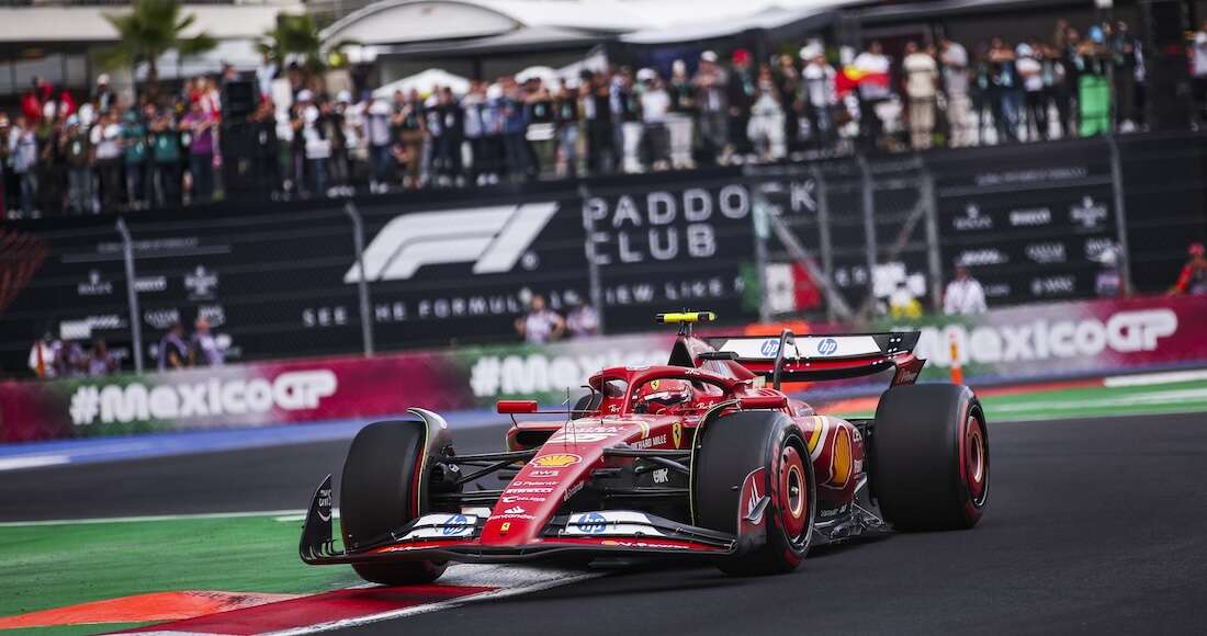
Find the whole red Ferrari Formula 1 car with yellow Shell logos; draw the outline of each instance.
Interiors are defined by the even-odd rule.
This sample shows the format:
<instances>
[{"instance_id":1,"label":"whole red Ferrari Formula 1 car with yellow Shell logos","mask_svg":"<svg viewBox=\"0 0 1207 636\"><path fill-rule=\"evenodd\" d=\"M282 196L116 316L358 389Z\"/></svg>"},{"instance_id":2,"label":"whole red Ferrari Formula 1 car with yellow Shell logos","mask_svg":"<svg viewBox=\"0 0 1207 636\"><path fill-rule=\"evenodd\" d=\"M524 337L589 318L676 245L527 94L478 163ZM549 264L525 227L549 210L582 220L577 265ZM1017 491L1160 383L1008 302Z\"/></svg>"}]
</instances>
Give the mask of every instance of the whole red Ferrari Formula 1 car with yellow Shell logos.
<instances>
[{"instance_id":1,"label":"whole red Ferrari Formula 1 car with yellow Shell logos","mask_svg":"<svg viewBox=\"0 0 1207 636\"><path fill-rule=\"evenodd\" d=\"M459 455L436 413L361 430L302 533L302 560L351 564L385 584L436 579L449 561L578 554L692 555L725 572L794 570L814 541L972 527L989 494L985 415L966 386L914 385L919 334L711 338L678 323L670 361L604 369L567 412L526 415L508 450ZM818 415L782 381L893 370L874 419ZM531 421L529 421L531 420ZM496 475L502 489L466 488Z\"/></svg>"}]
</instances>

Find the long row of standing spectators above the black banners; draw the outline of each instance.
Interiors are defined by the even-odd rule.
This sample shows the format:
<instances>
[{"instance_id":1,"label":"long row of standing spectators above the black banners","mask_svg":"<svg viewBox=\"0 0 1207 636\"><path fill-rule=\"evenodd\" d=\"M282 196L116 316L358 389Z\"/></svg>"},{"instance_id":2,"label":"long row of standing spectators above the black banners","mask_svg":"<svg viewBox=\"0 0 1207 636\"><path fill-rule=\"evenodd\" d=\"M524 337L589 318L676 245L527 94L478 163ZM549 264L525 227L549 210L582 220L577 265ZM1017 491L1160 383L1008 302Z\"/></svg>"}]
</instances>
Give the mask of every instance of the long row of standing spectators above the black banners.
<instances>
[{"instance_id":1,"label":"long row of standing spectators above the black banners","mask_svg":"<svg viewBox=\"0 0 1207 636\"><path fill-rule=\"evenodd\" d=\"M238 147L251 188L285 197L356 189L465 187L696 165L776 162L853 151L926 150L1091 136L1144 128L1145 65L1124 22L973 47L906 42L900 59L812 41L756 59L705 51L667 69L472 81L333 97L297 69L264 66L255 112L223 118L238 78L197 77L126 104L98 77L78 100L35 80L0 117L0 199L10 215L94 214L205 203L222 150ZM849 58L849 59L847 59ZM1188 43L1200 112L1207 105L1207 25ZM288 104L274 104L274 76ZM311 78L313 80L313 78ZM239 138L245 144L225 144Z\"/></svg>"}]
</instances>

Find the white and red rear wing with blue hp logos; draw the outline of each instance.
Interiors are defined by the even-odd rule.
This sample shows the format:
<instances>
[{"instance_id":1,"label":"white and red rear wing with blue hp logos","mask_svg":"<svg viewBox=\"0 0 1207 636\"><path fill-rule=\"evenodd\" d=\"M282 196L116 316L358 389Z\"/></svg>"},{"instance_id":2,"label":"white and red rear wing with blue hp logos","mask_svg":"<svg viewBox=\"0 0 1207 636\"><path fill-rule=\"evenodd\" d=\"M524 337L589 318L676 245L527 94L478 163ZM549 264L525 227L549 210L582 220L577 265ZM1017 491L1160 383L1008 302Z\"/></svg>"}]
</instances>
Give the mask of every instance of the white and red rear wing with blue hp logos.
<instances>
[{"instance_id":1,"label":"white and red rear wing with blue hp logos","mask_svg":"<svg viewBox=\"0 0 1207 636\"><path fill-rule=\"evenodd\" d=\"M715 337L704 358L731 360L756 375L783 381L839 380L896 368L893 385L912 384L925 360L914 356L920 332Z\"/></svg>"}]
</instances>

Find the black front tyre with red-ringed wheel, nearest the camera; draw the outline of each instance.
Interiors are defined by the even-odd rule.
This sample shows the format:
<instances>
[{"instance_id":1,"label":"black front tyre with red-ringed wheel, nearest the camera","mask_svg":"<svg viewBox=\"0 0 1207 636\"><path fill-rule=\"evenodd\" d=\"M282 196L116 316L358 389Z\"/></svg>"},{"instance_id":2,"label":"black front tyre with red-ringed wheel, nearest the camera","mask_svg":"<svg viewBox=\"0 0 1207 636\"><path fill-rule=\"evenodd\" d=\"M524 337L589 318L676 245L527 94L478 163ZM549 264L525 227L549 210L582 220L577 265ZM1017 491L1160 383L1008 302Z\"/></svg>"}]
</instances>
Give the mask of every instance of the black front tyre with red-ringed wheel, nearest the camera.
<instances>
[{"instance_id":1,"label":"black front tyre with red-ringed wheel, nearest the camera","mask_svg":"<svg viewBox=\"0 0 1207 636\"><path fill-rule=\"evenodd\" d=\"M723 572L777 574L800 565L812 539L817 484L791 419L752 410L707 424L692 479L695 524L737 536L736 552L717 562Z\"/></svg>"}]
</instances>

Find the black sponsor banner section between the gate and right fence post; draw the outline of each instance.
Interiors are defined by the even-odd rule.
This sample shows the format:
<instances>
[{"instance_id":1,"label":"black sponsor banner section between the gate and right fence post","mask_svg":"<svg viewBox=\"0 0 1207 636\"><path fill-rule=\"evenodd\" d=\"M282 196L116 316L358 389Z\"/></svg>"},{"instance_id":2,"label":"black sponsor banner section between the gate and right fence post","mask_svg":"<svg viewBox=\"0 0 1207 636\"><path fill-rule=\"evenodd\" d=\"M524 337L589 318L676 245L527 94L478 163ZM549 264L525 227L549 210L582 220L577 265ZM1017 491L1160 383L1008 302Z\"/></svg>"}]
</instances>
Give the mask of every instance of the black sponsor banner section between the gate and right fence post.
<instances>
[{"instance_id":1,"label":"black sponsor banner section between the gate and right fence post","mask_svg":"<svg viewBox=\"0 0 1207 636\"><path fill-rule=\"evenodd\" d=\"M932 162L944 272L967 264L997 305L1092 297L1118 246L1109 161L1081 140Z\"/></svg>"}]
</instances>

